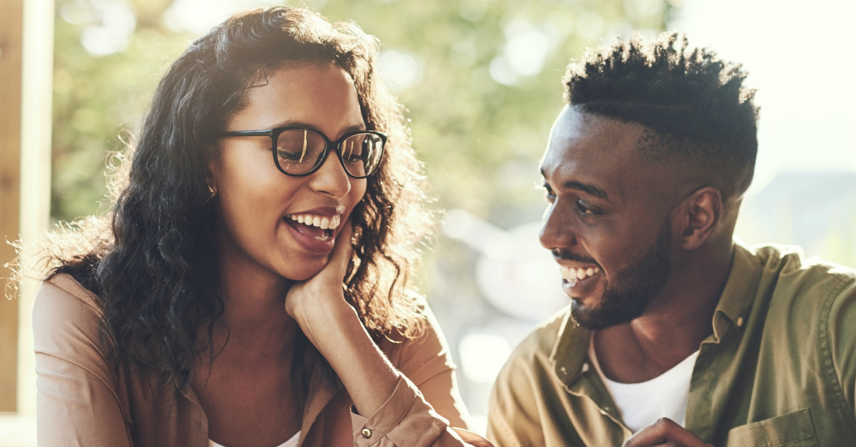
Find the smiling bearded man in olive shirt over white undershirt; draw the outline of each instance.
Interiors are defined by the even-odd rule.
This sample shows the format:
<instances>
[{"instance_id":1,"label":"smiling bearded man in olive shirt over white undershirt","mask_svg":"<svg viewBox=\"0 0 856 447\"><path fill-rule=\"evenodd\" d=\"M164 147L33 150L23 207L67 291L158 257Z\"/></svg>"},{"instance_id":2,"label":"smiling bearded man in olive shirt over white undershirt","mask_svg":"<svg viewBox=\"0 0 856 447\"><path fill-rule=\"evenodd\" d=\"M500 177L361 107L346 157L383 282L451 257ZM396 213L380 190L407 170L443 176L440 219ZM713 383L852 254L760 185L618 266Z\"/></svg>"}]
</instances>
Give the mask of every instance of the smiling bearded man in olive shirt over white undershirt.
<instances>
[{"instance_id":1,"label":"smiling bearded man in olive shirt over white undershirt","mask_svg":"<svg viewBox=\"0 0 856 447\"><path fill-rule=\"evenodd\" d=\"M856 271L733 240L745 77L675 33L568 68L540 237L572 302L497 378L497 447L856 445Z\"/></svg>"}]
</instances>

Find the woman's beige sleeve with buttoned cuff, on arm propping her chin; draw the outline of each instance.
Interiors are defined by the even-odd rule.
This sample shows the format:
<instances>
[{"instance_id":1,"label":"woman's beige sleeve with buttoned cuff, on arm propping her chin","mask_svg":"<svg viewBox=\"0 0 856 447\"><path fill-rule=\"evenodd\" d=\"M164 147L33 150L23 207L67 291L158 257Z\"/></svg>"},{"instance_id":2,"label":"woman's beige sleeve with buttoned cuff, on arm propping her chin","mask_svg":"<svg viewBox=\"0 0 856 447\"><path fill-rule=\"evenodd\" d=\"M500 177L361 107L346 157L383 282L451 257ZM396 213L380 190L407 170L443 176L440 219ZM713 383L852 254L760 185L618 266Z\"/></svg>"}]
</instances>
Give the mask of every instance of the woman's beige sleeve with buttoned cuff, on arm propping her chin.
<instances>
[{"instance_id":1,"label":"woman's beige sleeve with buttoned cuff, on arm propping her chin","mask_svg":"<svg viewBox=\"0 0 856 447\"><path fill-rule=\"evenodd\" d=\"M382 343L401 378L375 414L366 418L352 408L355 446L490 446L474 433L456 430L467 428L469 414L455 381L449 347L428 307L425 317L421 337Z\"/></svg>"}]
</instances>

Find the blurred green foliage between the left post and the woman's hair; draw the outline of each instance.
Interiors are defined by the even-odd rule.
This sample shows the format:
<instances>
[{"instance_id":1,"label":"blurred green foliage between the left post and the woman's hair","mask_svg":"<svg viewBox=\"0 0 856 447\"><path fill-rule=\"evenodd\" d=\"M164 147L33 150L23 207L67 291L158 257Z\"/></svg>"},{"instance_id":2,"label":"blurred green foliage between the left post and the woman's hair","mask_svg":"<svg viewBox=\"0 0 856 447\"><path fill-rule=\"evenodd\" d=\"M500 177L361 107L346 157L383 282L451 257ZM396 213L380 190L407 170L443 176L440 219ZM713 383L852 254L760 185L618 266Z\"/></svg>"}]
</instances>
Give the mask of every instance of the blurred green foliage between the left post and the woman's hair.
<instances>
[{"instance_id":1,"label":"blurred green foliage between the left post and the woman's hair","mask_svg":"<svg viewBox=\"0 0 856 447\"><path fill-rule=\"evenodd\" d=\"M190 36L161 25L169 2L139 0L136 27L125 51L94 57L80 45L81 31L98 16L57 17L54 60L53 179L51 216L70 220L98 212L106 193L108 154L121 151L146 113L160 74L181 54ZM85 12L86 4L60 1Z\"/></svg>"}]
</instances>

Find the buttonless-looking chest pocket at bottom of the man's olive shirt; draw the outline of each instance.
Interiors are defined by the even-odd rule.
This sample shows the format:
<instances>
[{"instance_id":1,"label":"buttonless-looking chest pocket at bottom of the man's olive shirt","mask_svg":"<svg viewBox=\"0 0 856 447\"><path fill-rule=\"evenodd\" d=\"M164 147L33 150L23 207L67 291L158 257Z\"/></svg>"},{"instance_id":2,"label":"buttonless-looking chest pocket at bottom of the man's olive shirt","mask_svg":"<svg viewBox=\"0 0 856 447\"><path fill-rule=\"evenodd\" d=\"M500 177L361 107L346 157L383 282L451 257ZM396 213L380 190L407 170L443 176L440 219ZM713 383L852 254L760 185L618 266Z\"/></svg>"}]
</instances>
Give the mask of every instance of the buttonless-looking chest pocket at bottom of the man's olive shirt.
<instances>
[{"instance_id":1,"label":"buttonless-looking chest pocket at bottom of the man's olive shirt","mask_svg":"<svg viewBox=\"0 0 856 447\"><path fill-rule=\"evenodd\" d=\"M728 432L726 447L817 447L814 424L808 408L735 426Z\"/></svg>"}]
</instances>

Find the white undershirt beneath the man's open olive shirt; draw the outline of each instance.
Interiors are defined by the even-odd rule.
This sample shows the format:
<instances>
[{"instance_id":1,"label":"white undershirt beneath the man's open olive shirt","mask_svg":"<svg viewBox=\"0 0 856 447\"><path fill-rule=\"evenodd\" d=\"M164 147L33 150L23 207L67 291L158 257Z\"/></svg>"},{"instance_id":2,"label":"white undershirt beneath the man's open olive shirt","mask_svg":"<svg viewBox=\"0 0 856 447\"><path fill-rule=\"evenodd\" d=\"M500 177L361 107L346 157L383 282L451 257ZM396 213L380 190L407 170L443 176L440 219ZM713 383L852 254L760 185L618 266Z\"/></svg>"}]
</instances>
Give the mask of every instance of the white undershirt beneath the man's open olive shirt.
<instances>
[{"instance_id":1,"label":"white undershirt beneath the man's open olive shirt","mask_svg":"<svg viewBox=\"0 0 856 447\"><path fill-rule=\"evenodd\" d=\"M589 343L589 357L603 380L621 419L627 428L639 432L658 419L666 417L681 426L687 422L687 399L690 395L690 379L693 378L698 351L681 361L669 371L640 384L621 384L609 380L597 363L594 337Z\"/></svg>"}]
</instances>

